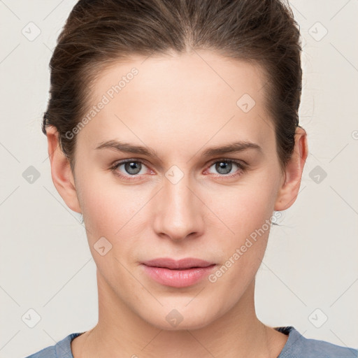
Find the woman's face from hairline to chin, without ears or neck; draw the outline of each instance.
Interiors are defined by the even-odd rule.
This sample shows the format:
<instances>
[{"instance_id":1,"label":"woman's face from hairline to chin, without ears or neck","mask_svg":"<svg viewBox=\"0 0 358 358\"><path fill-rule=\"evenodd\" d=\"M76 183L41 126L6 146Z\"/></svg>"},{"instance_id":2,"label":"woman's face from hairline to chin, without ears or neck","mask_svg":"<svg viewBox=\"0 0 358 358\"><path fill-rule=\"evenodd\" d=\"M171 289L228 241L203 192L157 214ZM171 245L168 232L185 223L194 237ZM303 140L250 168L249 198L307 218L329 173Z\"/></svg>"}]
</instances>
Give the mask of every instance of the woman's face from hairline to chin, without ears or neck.
<instances>
[{"instance_id":1,"label":"woman's face from hairline to chin, without ears or neck","mask_svg":"<svg viewBox=\"0 0 358 358\"><path fill-rule=\"evenodd\" d=\"M204 327L255 279L282 183L264 84L257 66L209 51L99 73L96 114L76 139L76 191L99 290L145 322ZM143 264L162 258L208 267Z\"/></svg>"}]
</instances>

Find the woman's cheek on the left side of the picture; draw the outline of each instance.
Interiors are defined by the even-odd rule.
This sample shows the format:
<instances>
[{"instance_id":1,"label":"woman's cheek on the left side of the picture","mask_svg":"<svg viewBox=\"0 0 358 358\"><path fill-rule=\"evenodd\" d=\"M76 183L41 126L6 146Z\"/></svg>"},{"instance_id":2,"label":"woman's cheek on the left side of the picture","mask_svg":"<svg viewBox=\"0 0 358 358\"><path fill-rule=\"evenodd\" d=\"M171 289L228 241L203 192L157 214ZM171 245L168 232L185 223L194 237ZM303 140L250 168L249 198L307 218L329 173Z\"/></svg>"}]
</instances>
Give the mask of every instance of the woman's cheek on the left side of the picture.
<instances>
[{"instance_id":1,"label":"woman's cheek on the left side of the picture","mask_svg":"<svg viewBox=\"0 0 358 358\"><path fill-rule=\"evenodd\" d=\"M114 279L120 275L121 280L127 280L124 266L136 259L133 248L139 245L141 236L136 213L143 199L133 194L133 188L102 187L97 180L93 185L87 181L82 186L82 201L87 240L97 268L103 277ZM101 247L105 248L104 255Z\"/></svg>"}]
</instances>

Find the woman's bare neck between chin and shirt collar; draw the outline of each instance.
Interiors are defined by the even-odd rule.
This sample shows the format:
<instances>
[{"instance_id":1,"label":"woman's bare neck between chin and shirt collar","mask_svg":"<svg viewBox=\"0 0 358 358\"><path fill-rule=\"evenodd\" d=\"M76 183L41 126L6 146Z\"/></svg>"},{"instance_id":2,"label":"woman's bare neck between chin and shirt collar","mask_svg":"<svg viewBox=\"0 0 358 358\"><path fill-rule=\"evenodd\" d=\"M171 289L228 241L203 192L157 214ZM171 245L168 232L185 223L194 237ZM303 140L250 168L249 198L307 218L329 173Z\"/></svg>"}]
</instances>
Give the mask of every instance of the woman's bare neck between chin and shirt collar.
<instances>
[{"instance_id":1,"label":"woman's bare neck between chin and shirt collar","mask_svg":"<svg viewBox=\"0 0 358 358\"><path fill-rule=\"evenodd\" d=\"M120 301L97 271L99 322L71 343L74 358L278 357L287 336L266 327L255 313L255 280L241 299L205 327L164 330ZM277 338L280 338L280 342Z\"/></svg>"}]
</instances>

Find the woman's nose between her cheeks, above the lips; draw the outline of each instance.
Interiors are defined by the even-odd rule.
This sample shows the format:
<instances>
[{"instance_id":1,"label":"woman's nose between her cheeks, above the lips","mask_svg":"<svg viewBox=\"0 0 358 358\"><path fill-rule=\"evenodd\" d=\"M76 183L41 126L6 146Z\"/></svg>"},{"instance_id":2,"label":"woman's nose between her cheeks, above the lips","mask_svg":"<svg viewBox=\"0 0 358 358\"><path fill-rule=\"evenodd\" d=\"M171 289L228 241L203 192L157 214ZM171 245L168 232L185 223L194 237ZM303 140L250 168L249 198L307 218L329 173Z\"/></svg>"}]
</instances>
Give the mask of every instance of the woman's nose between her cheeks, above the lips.
<instances>
[{"instance_id":1,"label":"woman's nose between her cheeks, above the lips","mask_svg":"<svg viewBox=\"0 0 358 358\"><path fill-rule=\"evenodd\" d=\"M203 234L205 205L187 176L176 183L164 178L158 194L153 203L157 235L182 241L189 236L194 238Z\"/></svg>"}]
</instances>

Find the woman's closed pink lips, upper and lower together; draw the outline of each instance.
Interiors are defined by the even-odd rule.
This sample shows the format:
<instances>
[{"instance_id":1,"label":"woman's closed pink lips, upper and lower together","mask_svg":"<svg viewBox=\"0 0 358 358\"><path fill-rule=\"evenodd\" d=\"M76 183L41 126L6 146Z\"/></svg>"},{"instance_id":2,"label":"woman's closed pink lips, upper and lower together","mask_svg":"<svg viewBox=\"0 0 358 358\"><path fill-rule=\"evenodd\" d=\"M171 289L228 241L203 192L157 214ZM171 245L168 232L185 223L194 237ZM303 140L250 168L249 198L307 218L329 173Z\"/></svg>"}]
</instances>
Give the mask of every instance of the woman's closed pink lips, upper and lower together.
<instances>
[{"instance_id":1,"label":"woman's closed pink lips, upper and lower together","mask_svg":"<svg viewBox=\"0 0 358 358\"><path fill-rule=\"evenodd\" d=\"M212 262L188 257L174 260L159 258L142 262L143 269L150 278L170 287L188 287L206 277L216 266Z\"/></svg>"}]
</instances>

